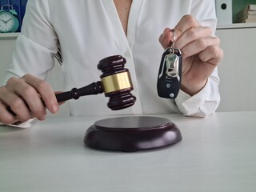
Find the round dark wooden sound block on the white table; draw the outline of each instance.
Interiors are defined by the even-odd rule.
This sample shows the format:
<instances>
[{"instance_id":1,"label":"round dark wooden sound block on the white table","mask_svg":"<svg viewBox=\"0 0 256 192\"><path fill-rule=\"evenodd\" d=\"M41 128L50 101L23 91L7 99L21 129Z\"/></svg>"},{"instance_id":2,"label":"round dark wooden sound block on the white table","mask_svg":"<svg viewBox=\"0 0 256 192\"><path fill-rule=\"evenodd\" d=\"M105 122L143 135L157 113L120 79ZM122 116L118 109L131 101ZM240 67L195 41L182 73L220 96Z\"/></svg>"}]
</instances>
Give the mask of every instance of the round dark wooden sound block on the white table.
<instances>
[{"instance_id":1,"label":"round dark wooden sound block on the white table","mask_svg":"<svg viewBox=\"0 0 256 192\"><path fill-rule=\"evenodd\" d=\"M134 152L174 145L182 140L178 127L166 118L128 116L94 122L84 143L95 150Z\"/></svg>"}]
</instances>

